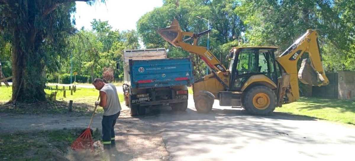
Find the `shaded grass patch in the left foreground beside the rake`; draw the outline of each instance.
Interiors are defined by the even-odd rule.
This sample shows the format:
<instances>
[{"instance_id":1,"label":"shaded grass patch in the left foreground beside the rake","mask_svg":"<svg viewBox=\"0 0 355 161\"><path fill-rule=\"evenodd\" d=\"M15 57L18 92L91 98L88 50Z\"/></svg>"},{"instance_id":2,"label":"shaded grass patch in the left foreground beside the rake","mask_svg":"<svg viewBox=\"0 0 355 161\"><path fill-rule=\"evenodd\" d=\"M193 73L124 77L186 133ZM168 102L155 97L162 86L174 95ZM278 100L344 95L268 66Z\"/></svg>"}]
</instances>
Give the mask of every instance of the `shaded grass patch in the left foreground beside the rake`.
<instances>
[{"instance_id":1,"label":"shaded grass patch in the left foreground beside the rake","mask_svg":"<svg viewBox=\"0 0 355 161\"><path fill-rule=\"evenodd\" d=\"M82 129L63 129L36 133L0 134L0 161L62 160L68 147L81 134ZM95 130L93 140L100 139Z\"/></svg>"}]
</instances>

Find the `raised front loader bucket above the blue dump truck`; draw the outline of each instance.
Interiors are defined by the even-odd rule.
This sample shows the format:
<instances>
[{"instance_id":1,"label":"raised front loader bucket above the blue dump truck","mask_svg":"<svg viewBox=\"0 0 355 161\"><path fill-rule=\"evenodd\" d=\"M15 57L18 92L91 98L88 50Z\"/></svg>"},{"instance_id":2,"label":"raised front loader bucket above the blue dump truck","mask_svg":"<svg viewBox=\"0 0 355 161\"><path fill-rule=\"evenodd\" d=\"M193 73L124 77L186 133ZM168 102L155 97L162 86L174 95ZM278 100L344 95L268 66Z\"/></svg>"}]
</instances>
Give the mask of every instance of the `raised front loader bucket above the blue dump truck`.
<instances>
[{"instance_id":1,"label":"raised front loader bucket above the blue dump truck","mask_svg":"<svg viewBox=\"0 0 355 161\"><path fill-rule=\"evenodd\" d=\"M178 20L176 19L171 22L170 27L158 29L158 33L166 41L168 41L171 45L174 45L175 47L179 47L179 45L176 43L177 41L182 41L182 30L180 28Z\"/></svg>"}]
</instances>

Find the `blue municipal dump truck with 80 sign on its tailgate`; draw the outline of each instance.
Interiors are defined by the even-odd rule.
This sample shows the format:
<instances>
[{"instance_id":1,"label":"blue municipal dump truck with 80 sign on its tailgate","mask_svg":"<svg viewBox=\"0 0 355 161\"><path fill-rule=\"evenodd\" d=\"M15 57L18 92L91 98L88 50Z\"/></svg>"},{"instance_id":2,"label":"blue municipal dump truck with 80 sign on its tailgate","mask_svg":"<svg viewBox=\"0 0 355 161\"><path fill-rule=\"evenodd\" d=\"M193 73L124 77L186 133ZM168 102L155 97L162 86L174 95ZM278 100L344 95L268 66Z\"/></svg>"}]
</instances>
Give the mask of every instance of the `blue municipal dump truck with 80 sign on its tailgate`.
<instances>
[{"instance_id":1,"label":"blue municipal dump truck with 80 sign on its tailgate","mask_svg":"<svg viewBox=\"0 0 355 161\"><path fill-rule=\"evenodd\" d=\"M192 59L167 58L166 50L124 50L124 84L122 86L130 115L144 115L146 108L170 105L185 111L194 82Z\"/></svg>"}]
</instances>

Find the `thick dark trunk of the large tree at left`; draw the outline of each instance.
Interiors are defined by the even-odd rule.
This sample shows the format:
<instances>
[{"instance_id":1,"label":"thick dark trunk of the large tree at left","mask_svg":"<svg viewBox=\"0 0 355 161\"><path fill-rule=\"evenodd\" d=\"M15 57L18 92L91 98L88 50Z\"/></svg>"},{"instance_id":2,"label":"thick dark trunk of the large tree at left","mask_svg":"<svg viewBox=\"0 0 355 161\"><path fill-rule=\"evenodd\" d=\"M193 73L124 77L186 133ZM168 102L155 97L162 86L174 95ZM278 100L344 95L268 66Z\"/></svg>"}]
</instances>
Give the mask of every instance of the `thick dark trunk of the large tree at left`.
<instances>
[{"instance_id":1,"label":"thick dark trunk of the large tree at left","mask_svg":"<svg viewBox=\"0 0 355 161\"><path fill-rule=\"evenodd\" d=\"M12 101L45 100L45 79L41 77L43 63L38 53L42 40L31 23L13 26L12 39Z\"/></svg>"}]
</instances>

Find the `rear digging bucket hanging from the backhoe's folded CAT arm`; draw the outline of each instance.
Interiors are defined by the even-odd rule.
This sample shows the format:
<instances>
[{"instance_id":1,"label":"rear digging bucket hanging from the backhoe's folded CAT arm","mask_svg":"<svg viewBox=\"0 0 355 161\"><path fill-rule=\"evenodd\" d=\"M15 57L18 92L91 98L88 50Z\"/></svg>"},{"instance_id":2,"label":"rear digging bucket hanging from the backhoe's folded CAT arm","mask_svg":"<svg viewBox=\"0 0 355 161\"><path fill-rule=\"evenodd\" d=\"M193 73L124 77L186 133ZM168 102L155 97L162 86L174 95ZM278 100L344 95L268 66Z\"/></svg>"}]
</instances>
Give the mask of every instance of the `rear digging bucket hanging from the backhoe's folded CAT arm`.
<instances>
[{"instance_id":1,"label":"rear digging bucket hanging from the backhoe's folded CAT arm","mask_svg":"<svg viewBox=\"0 0 355 161\"><path fill-rule=\"evenodd\" d=\"M322 75L319 74L312 66L308 59L302 60L301 68L298 71L298 79L303 84L309 85L321 85L324 79L322 80Z\"/></svg>"}]
</instances>

